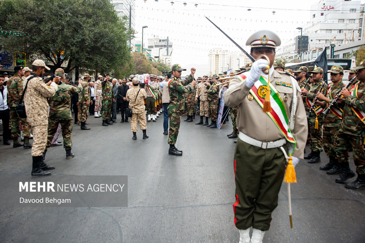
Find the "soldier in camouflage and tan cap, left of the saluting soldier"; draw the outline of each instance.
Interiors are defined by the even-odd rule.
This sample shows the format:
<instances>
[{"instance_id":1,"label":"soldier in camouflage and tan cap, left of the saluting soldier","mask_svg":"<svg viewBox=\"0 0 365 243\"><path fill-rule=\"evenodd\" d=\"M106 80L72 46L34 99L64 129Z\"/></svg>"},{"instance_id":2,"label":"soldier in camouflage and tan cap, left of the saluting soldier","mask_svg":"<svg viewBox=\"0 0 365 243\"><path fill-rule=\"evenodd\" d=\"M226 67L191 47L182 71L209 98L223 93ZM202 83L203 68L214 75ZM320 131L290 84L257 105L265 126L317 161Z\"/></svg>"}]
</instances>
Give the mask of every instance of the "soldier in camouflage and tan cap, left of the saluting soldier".
<instances>
[{"instance_id":1,"label":"soldier in camouflage and tan cap, left of the saluting soldier","mask_svg":"<svg viewBox=\"0 0 365 243\"><path fill-rule=\"evenodd\" d=\"M91 101L89 80L90 76L88 73L84 75L84 81L82 81L82 91L78 95L81 130L90 130L89 127L85 126L86 119L89 112L89 105Z\"/></svg>"}]
</instances>

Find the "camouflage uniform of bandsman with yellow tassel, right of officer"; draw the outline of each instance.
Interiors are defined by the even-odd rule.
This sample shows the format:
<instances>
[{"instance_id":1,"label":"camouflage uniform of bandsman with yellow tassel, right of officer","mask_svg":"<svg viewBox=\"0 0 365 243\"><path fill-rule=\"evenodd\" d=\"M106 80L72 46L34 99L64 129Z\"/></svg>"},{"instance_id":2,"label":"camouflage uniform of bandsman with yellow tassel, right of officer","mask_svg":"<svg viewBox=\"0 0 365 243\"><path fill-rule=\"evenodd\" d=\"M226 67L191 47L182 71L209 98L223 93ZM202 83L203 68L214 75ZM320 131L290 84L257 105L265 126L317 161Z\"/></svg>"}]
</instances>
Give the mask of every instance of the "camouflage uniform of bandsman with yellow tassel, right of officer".
<instances>
[{"instance_id":1,"label":"camouflage uniform of bandsman with yellow tassel, right of officer","mask_svg":"<svg viewBox=\"0 0 365 243\"><path fill-rule=\"evenodd\" d=\"M320 81L316 82L312 86L312 88L307 93L308 100L313 101L315 99L323 82L324 82L323 79L321 79ZM326 84L324 84L323 90L321 93L326 95L327 89L328 89L328 86ZM308 106L307 103L304 103L304 107L306 108L306 110L308 109L308 111L309 111L310 107ZM318 129L314 128L315 121L316 121L316 113L313 110L310 117L308 117L308 128L309 128L309 134L310 134L310 138L311 138L310 139L311 149L313 150L313 152L317 152L317 151L322 152L323 148L322 148L321 135L322 135L322 125L323 125L323 114L320 113L318 115Z\"/></svg>"}]
</instances>

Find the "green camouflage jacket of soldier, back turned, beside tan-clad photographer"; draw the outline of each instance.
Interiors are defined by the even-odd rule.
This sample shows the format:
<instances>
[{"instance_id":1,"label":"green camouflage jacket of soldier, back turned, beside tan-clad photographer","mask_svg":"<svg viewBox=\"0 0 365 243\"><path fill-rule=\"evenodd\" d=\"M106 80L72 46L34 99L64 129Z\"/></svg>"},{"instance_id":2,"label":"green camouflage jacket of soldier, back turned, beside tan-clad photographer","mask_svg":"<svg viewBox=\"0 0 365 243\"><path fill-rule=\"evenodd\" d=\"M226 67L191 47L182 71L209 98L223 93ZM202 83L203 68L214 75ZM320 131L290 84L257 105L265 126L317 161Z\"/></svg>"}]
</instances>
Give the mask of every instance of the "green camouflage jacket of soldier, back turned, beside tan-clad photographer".
<instances>
[{"instance_id":1,"label":"green camouflage jacket of soldier, back turned, beside tan-clad photographer","mask_svg":"<svg viewBox=\"0 0 365 243\"><path fill-rule=\"evenodd\" d=\"M71 120L71 96L81 91L81 84L77 87L65 83L58 85L58 90L54 96L49 98L49 119Z\"/></svg>"}]
</instances>

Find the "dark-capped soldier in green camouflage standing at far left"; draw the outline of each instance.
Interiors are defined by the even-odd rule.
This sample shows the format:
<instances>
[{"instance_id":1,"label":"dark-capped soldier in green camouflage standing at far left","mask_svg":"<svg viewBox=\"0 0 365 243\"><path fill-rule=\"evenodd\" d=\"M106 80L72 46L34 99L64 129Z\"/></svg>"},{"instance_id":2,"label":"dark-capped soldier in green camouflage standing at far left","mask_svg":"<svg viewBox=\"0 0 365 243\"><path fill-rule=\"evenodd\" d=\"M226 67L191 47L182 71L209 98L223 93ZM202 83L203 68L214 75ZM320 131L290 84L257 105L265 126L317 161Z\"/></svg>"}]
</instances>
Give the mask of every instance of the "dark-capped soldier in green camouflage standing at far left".
<instances>
[{"instance_id":1,"label":"dark-capped soldier in green camouflage standing at far left","mask_svg":"<svg viewBox=\"0 0 365 243\"><path fill-rule=\"evenodd\" d=\"M20 118L18 113L16 113L16 106L19 104L20 98L23 94L24 76L23 66L15 66L15 74L7 81L8 89L8 105L10 108L10 120L11 120L11 138L13 139L13 148L21 147L22 144L18 142L20 136L19 123L22 124L23 136L24 136L24 148L31 148L32 144L29 143L30 137L30 125L26 118Z\"/></svg>"}]
</instances>

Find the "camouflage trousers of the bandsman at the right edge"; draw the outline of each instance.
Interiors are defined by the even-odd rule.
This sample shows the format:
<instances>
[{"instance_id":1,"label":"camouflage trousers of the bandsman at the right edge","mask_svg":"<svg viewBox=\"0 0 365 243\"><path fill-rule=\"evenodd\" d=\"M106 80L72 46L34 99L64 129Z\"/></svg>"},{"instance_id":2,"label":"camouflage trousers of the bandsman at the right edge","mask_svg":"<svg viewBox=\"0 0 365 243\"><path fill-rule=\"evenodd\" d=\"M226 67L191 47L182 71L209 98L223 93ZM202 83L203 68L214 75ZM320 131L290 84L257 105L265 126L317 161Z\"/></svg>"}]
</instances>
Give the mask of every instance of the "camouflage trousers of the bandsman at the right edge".
<instances>
[{"instance_id":1,"label":"camouflage trousers of the bandsman at the right edge","mask_svg":"<svg viewBox=\"0 0 365 243\"><path fill-rule=\"evenodd\" d=\"M365 175L364 132L346 134L340 128L334 142L334 150L340 163L349 163L349 146L352 147L357 174ZM350 145L349 145L350 144Z\"/></svg>"}]
</instances>

